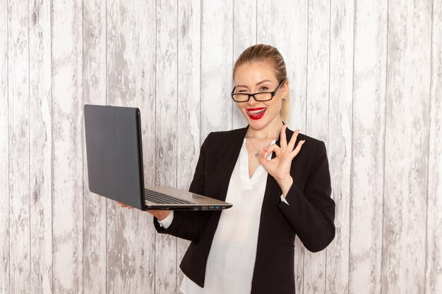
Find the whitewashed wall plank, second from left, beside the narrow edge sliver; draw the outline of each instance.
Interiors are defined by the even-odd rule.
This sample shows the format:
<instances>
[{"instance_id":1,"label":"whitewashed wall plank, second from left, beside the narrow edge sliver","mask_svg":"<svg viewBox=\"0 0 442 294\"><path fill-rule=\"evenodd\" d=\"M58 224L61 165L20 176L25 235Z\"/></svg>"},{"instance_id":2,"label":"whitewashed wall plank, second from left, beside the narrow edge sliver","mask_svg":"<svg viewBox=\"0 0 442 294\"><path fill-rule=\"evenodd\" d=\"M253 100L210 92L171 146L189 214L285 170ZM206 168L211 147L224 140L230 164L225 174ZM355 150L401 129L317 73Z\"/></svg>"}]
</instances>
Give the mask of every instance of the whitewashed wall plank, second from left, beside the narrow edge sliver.
<instances>
[{"instance_id":1,"label":"whitewashed wall plank, second from left, beside the narrow edge sliver","mask_svg":"<svg viewBox=\"0 0 442 294\"><path fill-rule=\"evenodd\" d=\"M28 3L8 2L9 293L30 293Z\"/></svg>"}]
</instances>

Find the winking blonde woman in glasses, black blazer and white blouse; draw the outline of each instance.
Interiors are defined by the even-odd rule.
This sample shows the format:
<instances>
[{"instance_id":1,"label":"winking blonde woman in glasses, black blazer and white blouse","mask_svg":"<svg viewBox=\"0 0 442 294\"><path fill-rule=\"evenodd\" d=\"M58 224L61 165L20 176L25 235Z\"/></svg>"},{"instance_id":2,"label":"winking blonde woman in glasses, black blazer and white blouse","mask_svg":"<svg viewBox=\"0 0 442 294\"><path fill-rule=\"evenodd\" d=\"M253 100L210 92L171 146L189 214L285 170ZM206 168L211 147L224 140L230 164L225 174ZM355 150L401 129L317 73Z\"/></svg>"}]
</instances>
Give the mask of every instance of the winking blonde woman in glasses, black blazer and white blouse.
<instances>
[{"instance_id":1,"label":"winking blonde woman in glasses, black blazer and white blouse","mask_svg":"<svg viewBox=\"0 0 442 294\"><path fill-rule=\"evenodd\" d=\"M287 128L289 80L275 47L246 49L232 99L249 125L210 133L189 190L222 212L150 211L158 233L191 240L183 293L294 293L294 237L311 252L335 236L324 142Z\"/></svg>"}]
</instances>

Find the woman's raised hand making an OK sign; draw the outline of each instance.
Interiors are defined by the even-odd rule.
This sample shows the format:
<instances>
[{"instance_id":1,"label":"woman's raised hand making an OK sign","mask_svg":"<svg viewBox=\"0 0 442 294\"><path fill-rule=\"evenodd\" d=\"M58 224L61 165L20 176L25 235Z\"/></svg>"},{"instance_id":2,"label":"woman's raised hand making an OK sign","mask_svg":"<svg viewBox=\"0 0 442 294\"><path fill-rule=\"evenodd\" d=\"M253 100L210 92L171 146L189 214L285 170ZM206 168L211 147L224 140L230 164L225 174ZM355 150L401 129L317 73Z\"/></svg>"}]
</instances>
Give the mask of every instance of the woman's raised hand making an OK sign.
<instances>
[{"instance_id":1,"label":"woman's raised hand making an OK sign","mask_svg":"<svg viewBox=\"0 0 442 294\"><path fill-rule=\"evenodd\" d=\"M305 142L305 140L299 141L297 147L294 148L294 143L296 142L299 134L299 130L295 130L292 138L290 138L290 141L287 143L287 137L285 135L286 128L287 125L282 125L280 133L281 147L276 144L270 145L268 149L263 149L263 153L261 154L261 157L259 157L265 171L270 173L270 175L275 178L278 185L281 187L282 194L284 195L287 195L287 192L293 183L292 176L290 176L290 166L292 165L292 160L297 156L301 150L301 146ZM268 160L266 157L271 152L275 152L276 157Z\"/></svg>"}]
</instances>

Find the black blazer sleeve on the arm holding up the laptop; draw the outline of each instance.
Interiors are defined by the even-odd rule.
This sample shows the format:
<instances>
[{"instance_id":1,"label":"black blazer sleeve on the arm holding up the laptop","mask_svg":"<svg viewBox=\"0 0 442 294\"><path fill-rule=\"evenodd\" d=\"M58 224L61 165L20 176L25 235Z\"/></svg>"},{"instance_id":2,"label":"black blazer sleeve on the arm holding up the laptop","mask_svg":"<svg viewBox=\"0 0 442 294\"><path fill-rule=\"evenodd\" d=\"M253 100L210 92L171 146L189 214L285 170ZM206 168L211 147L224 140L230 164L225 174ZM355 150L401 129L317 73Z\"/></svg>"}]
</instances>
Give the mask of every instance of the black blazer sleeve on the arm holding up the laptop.
<instances>
[{"instance_id":1,"label":"black blazer sleeve on the arm holding up the laptop","mask_svg":"<svg viewBox=\"0 0 442 294\"><path fill-rule=\"evenodd\" d=\"M196 164L195 173L191 182L189 192L205 195L205 160L207 156L207 147L209 145L212 133L204 140L200 150L200 157ZM205 225L213 212L193 212L193 211L174 211L174 219L170 226L165 229L160 226L157 218L154 216L154 225L158 233L167 233L175 237L198 241L205 230Z\"/></svg>"}]
</instances>

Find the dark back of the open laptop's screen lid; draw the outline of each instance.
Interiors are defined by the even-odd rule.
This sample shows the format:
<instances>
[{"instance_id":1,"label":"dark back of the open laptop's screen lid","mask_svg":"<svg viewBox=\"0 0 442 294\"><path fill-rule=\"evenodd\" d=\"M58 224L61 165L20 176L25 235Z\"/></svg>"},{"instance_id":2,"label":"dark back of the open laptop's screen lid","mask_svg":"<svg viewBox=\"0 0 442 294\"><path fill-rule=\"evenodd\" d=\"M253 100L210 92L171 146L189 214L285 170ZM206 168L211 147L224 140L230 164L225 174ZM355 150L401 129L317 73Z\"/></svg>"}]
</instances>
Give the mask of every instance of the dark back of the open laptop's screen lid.
<instances>
[{"instance_id":1,"label":"dark back of the open laptop's screen lid","mask_svg":"<svg viewBox=\"0 0 442 294\"><path fill-rule=\"evenodd\" d=\"M84 106L89 190L144 210L140 110Z\"/></svg>"}]
</instances>

